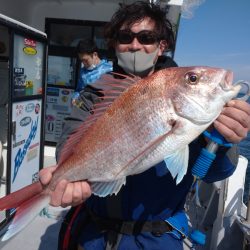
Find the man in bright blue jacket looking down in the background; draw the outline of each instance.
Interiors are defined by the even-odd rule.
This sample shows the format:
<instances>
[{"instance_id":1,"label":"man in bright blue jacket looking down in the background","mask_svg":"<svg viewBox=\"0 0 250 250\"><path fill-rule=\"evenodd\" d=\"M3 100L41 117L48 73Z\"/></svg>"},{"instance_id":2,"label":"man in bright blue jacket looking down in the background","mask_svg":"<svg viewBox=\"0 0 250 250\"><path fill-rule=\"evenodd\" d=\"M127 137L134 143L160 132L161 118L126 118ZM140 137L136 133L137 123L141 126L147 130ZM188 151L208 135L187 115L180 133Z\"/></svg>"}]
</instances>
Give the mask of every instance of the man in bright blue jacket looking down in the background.
<instances>
[{"instance_id":1,"label":"man in bright blue jacket looking down in the background","mask_svg":"<svg viewBox=\"0 0 250 250\"><path fill-rule=\"evenodd\" d=\"M105 59L100 59L98 48L92 39L80 40L76 52L82 63L76 92L72 97L73 104L76 104L79 92L87 85L95 82L102 74L112 71L112 65Z\"/></svg>"}]
</instances>

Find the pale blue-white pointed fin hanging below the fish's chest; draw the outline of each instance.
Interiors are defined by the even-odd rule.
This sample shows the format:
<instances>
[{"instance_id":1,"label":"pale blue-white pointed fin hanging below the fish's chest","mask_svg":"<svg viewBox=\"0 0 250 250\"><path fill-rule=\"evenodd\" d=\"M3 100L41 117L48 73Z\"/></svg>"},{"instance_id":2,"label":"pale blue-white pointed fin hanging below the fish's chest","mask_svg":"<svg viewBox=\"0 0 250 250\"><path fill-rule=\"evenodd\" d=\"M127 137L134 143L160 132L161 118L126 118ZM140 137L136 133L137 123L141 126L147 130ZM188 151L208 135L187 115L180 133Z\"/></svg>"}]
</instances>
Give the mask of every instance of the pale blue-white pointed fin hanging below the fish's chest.
<instances>
[{"instance_id":1,"label":"pale blue-white pointed fin hanging below the fish's chest","mask_svg":"<svg viewBox=\"0 0 250 250\"><path fill-rule=\"evenodd\" d=\"M166 167L171 173L172 177L176 178L176 184L179 184L187 172L189 158L188 145L174 154L169 155L164 159Z\"/></svg>"}]
</instances>

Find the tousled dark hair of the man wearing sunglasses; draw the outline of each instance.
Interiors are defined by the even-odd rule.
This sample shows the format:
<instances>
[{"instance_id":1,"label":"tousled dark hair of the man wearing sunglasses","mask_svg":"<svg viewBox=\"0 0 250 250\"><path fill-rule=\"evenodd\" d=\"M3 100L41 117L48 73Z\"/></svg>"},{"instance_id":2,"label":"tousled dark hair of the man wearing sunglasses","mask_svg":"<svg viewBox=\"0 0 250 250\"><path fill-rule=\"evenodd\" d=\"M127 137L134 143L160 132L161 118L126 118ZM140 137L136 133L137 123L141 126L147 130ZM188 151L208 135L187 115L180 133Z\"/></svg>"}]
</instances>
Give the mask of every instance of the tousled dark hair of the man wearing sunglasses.
<instances>
[{"instance_id":1,"label":"tousled dark hair of the man wearing sunglasses","mask_svg":"<svg viewBox=\"0 0 250 250\"><path fill-rule=\"evenodd\" d=\"M155 21L155 31L159 34L159 40L166 40L168 49L174 49L174 32L172 24L166 18L166 14L166 10L161 9L159 5L143 1L137 1L129 5L120 5L120 8L112 16L104 30L108 46L114 48L117 42L118 31L123 25L126 28L130 28L145 17L150 17Z\"/></svg>"}]
</instances>

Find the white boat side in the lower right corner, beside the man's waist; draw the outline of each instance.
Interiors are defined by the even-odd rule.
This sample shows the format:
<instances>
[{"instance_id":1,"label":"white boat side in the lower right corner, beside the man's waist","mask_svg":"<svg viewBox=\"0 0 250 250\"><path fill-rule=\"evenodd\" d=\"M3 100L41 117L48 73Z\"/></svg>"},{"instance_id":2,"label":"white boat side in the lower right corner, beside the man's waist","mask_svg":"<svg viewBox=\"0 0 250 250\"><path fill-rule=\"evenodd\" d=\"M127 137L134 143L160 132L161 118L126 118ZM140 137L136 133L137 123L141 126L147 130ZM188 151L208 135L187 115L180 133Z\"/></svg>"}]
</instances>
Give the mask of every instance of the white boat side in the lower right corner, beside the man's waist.
<instances>
[{"instance_id":1,"label":"white boat side in the lower right corner, beside the man's waist","mask_svg":"<svg viewBox=\"0 0 250 250\"><path fill-rule=\"evenodd\" d=\"M243 202L247 165L248 160L239 156L232 176L211 184L201 182L199 204L193 193L188 196L186 210L190 227L206 234L206 244L195 249L248 249L250 210ZM191 245L187 240L184 248L190 249Z\"/></svg>"}]
</instances>

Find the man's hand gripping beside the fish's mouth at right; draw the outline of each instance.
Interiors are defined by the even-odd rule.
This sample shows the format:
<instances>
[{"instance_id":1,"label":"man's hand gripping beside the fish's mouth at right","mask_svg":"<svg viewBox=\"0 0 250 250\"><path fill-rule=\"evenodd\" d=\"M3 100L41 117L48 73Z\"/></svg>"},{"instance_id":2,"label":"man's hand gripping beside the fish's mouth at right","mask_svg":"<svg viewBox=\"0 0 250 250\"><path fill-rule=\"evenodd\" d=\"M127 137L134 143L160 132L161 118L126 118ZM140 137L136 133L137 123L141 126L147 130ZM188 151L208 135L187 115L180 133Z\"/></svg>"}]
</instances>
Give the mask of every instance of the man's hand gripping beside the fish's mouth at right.
<instances>
[{"instance_id":1,"label":"man's hand gripping beside the fish's mouth at right","mask_svg":"<svg viewBox=\"0 0 250 250\"><path fill-rule=\"evenodd\" d=\"M250 131L250 105L242 100L228 102L214 127L228 142L239 143Z\"/></svg>"}]
</instances>

